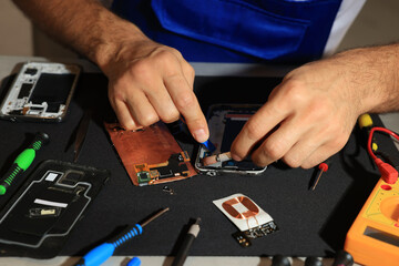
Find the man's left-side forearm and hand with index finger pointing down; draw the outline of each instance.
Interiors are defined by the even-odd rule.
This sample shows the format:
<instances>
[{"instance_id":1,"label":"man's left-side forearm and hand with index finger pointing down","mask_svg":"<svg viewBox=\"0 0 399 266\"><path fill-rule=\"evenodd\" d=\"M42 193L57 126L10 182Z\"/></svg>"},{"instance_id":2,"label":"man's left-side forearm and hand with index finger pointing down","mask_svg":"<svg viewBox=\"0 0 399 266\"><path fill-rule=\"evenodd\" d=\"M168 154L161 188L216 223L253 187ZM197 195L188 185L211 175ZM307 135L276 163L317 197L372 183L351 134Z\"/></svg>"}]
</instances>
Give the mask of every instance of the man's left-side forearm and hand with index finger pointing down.
<instances>
[{"instance_id":1,"label":"man's left-side forearm and hand with index finger pointing down","mask_svg":"<svg viewBox=\"0 0 399 266\"><path fill-rule=\"evenodd\" d=\"M13 0L42 30L95 62L122 126L135 130L183 115L194 139L208 139L193 92L194 70L175 49L146 38L98 0Z\"/></svg>"}]
</instances>

